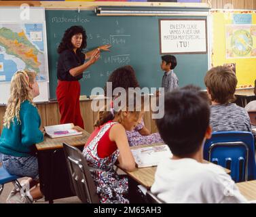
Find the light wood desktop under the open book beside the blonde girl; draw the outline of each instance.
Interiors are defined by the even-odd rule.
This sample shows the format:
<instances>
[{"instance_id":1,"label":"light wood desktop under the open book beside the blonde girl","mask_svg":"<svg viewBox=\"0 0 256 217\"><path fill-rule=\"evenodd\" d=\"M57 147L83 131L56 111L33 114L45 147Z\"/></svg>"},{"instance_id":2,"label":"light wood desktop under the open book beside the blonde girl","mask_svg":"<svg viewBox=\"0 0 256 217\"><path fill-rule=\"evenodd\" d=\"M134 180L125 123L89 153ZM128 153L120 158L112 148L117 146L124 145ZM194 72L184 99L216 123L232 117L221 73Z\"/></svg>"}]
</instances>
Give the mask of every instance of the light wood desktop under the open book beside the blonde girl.
<instances>
[{"instance_id":1,"label":"light wood desktop under the open book beside the blonde girl","mask_svg":"<svg viewBox=\"0 0 256 217\"><path fill-rule=\"evenodd\" d=\"M75 129L83 132L83 134L79 136L67 136L61 138L50 138L49 136L44 136L43 142L36 144L38 151L43 151L47 149L60 149L62 148L62 143L67 142L73 146L80 146L86 144L90 134L85 130L81 129L81 127L75 126Z\"/></svg>"}]
</instances>

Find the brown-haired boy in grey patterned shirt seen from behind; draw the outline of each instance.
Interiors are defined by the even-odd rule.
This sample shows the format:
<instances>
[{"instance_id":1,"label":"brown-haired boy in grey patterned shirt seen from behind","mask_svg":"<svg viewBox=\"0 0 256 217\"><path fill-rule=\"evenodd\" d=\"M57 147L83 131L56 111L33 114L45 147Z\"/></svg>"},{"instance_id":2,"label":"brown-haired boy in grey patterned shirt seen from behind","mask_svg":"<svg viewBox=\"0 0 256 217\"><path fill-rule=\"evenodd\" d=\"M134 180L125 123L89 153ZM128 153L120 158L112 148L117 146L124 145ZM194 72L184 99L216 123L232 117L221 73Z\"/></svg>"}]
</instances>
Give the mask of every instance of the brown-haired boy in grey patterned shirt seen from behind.
<instances>
[{"instance_id":1,"label":"brown-haired boy in grey patterned shirt seen from behind","mask_svg":"<svg viewBox=\"0 0 256 217\"><path fill-rule=\"evenodd\" d=\"M251 123L244 108L232 103L238 83L230 67L211 68L204 77L211 104L210 124L216 131L248 131Z\"/></svg>"}]
</instances>

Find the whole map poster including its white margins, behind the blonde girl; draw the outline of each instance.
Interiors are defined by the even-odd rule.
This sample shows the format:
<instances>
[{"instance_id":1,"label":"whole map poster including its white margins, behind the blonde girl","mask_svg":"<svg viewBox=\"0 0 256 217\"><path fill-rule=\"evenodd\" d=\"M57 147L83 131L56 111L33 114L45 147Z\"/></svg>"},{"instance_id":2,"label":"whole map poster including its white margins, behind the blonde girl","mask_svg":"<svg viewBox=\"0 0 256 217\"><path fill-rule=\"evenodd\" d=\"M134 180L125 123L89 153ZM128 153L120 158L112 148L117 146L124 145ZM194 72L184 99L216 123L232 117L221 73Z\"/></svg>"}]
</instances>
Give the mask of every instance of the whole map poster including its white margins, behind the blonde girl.
<instances>
[{"instance_id":1,"label":"whole map poster including its white margins, behind the blonde girl","mask_svg":"<svg viewBox=\"0 0 256 217\"><path fill-rule=\"evenodd\" d=\"M18 70L37 73L39 96L48 102L49 73L45 9L43 7L0 7L0 105L10 97L12 76Z\"/></svg>"}]
</instances>

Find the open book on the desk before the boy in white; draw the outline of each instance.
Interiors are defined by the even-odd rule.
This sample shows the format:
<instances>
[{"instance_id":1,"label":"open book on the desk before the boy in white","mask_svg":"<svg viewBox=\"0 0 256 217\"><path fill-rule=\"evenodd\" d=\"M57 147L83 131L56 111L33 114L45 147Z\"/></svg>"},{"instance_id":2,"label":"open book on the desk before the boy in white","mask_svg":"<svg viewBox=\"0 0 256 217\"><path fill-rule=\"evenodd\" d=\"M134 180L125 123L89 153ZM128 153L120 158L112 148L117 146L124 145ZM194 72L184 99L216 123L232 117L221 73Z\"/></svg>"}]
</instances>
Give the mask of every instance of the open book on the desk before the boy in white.
<instances>
[{"instance_id":1,"label":"open book on the desk before the boy in white","mask_svg":"<svg viewBox=\"0 0 256 217\"><path fill-rule=\"evenodd\" d=\"M162 159L172 157L168 145L150 146L141 149L131 149L138 167L151 167L158 165Z\"/></svg>"}]
</instances>

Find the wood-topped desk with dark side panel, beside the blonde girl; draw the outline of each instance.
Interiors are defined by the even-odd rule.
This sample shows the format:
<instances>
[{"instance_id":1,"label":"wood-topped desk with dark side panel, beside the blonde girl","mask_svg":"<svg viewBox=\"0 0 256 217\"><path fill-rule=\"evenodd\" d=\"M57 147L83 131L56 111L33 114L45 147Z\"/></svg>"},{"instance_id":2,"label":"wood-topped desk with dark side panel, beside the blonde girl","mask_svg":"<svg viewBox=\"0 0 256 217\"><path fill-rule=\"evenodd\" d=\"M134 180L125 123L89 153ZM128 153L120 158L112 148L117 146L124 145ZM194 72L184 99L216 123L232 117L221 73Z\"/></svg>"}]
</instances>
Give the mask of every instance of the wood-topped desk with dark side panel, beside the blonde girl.
<instances>
[{"instance_id":1,"label":"wood-topped desk with dark side panel, beside the blonde girl","mask_svg":"<svg viewBox=\"0 0 256 217\"><path fill-rule=\"evenodd\" d=\"M36 144L40 189L45 196L45 201L49 201L49 203L52 203L54 199L74 196L70 188L62 143L67 142L82 150L90 136L80 127L76 127L76 129L83 134L62 138L44 136L43 142Z\"/></svg>"}]
</instances>

